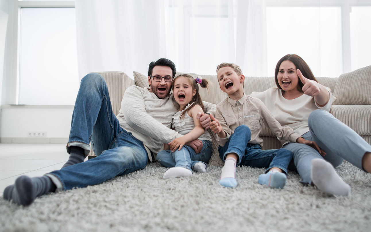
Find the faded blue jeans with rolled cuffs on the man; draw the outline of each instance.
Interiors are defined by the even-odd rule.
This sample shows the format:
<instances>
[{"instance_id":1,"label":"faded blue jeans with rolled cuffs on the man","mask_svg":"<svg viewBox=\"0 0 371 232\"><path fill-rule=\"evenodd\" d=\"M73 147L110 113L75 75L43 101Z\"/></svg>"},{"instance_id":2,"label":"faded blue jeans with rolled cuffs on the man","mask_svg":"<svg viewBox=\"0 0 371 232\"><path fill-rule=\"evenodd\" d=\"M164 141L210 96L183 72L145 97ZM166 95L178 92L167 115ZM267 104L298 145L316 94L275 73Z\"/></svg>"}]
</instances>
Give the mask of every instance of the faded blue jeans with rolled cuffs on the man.
<instances>
[{"instance_id":1,"label":"faded blue jeans with rolled cuffs on the man","mask_svg":"<svg viewBox=\"0 0 371 232\"><path fill-rule=\"evenodd\" d=\"M87 154L90 141L96 158L46 174L59 190L100 184L142 169L148 162L142 141L120 127L107 84L99 74L88 74L81 80L67 151L70 153L70 146L79 146Z\"/></svg>"}]
</instances>

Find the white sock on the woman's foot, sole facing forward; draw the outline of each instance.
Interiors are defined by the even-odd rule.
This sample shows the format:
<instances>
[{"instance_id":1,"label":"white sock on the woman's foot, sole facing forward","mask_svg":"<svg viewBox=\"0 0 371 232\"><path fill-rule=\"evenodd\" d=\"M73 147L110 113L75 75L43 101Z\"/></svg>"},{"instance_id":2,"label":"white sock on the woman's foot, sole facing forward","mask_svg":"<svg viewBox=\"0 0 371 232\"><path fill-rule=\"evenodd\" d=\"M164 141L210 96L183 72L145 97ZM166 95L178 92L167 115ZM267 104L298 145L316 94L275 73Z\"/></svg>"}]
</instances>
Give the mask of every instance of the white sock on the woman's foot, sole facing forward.
<instances>
[{"instance_id":1,"label":"white sock on the woman's foot, sole facing forward","mask_svg":"<svg viewBox=\"0 0 371 232\"><path fill-rule=\"evenodd\" d=\"M312 183L330 195L347 196L351 188L336 173L334 167L323 159L313 159L311 168Z\"/></svg>"}]
</instances>

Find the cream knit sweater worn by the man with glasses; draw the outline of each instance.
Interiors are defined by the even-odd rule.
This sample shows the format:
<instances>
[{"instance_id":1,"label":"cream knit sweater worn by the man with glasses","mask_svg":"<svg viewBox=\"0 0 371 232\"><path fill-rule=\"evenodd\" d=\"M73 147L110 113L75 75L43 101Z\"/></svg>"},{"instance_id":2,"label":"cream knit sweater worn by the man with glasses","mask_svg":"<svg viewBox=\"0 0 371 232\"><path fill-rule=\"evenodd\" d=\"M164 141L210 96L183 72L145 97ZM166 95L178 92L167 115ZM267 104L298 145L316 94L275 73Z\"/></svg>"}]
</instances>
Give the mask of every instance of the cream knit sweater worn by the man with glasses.
<instances>
[{"instance_id":1,"label":"cream knit sweater worn by the man with glasses","mask_svg":"<svg viewBox=\"0 0 371 232\"><path fill-rule=\"evenodd\" d=\"M216 105L204 102L206 112L215 115ZM120 126L141 140L148 149L157 154L182 135L171 128L172 116L179 109L173 95L159 99L149 88L130 86L122 98L121 109L117 115ZM148 154L150 161L151 154Z\"/></svg>"}]
</instances>

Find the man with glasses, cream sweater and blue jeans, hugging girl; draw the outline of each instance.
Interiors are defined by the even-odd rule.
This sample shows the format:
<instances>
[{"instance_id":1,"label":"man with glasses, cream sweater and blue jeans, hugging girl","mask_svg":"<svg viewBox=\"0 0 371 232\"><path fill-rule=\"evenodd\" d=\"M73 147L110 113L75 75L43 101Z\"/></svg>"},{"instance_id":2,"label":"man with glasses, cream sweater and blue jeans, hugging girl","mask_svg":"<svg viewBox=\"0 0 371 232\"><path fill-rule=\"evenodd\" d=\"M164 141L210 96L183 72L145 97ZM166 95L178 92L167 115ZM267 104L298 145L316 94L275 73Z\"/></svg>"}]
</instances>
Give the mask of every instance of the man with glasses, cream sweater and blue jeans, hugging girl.
<instances>
[{"instance_id":1,"label":"man with glasses, cream sweater and blue jeans, hugging girl","mask_svg":"<svg viewBox=\"0 0 371 232\"><path fill-rule=\"evenodd\" d=\"M172 61L163 58L152 61L148 68L150 88L130 86L116 117L104 78L99 74L86 75L73 109L67 144L69 160L62 169L42 177L20 176L15 184L5 188L4 199L30 205L48 192L100 184L154 161L164 143L181 137L170 129L172 116L178 110L170 94L174 76ZM205 103L205 108L215 114L214 104ZM200 112L198 117L203 127L209 128L209 116ZM90 151L89 142L97 157L83 162ZM196 152L202 149L200 140L188 145Z\"/></svg>"}]
</instances>

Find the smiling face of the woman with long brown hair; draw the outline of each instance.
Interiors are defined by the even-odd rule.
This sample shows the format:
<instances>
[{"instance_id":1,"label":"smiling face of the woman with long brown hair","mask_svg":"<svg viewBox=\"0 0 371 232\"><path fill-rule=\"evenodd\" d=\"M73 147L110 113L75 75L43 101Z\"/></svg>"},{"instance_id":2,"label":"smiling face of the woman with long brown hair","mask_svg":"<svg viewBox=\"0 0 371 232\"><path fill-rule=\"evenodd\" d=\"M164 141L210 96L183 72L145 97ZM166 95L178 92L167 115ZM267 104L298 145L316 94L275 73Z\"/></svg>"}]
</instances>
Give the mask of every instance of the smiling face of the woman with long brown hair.
<instances>
[{"instance_id":1,"label":"smiling face of the woman with long brown hair","mask_svg":"<svg viewBox=\"0 0 371 232\"><path fill-rule=\"evenodd\" d=\"M283 91L301 92L301 87L298 84L299 77L296 74L296 66L293 62L282 61L279 66L277 80Z\"/></svg>"}]
</instances>

